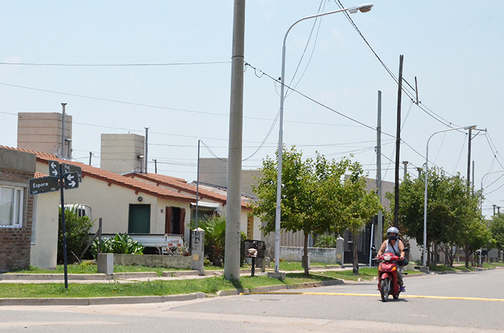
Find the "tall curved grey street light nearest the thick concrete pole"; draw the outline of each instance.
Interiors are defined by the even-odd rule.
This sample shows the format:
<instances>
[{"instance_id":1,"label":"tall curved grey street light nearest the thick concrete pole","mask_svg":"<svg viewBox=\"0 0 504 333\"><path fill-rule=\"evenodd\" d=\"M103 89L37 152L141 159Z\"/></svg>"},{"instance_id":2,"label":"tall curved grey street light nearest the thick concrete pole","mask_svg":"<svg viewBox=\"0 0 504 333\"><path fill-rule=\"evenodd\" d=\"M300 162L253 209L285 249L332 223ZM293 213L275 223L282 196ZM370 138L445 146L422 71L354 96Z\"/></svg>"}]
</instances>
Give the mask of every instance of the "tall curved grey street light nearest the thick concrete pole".
<instances>
[{"instance_id":1,"label":"tall curved grey street light nearest the thick concrete pole","mask_svg":"<svg viewBox=\"0 0 504 333\"><path fill-rule=\"evenodd\" d=\"M348 7L344 9L338 9L337 11L328 11L327 13L319 13L316 15L306 16L304 18L299 19L294 22L284 37L284 45L282 47L282 76L280 77L280 119L279 119L279 133L278 133L278 176L277 176L277 210L275 212L275 273L279 273L279 264L280 264L280 217L282 216L282 209L280 204L282 202L282 148L284 145L284 88L285 88L285 43L287 40L287 35L291 29L299 22L308 20L309 18L316 18L319 16L331 15L333 13L340 13L342 11L348 11L348 13L357 13L361 11L362 13L367 13L371 10L372 4L363 4L355 7Z\"/></svg>"}]
</instances>

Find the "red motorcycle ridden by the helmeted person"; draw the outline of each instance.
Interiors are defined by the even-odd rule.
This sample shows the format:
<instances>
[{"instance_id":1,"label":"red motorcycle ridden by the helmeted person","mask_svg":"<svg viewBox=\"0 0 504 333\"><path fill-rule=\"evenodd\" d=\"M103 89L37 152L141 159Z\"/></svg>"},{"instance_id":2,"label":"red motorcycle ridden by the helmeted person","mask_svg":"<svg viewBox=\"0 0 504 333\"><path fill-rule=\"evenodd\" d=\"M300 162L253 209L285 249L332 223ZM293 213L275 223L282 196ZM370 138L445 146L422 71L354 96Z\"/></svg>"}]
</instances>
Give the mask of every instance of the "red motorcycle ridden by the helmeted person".
<instances>
[{"instance_id":1,"label":"red motorcycle ridden by the helmeted person","mask_svg":"<svg viewBox=\"0 0 504 333\"><path fill-rule=\"evenodd\" d=\"M399 261L400 258L393 253L383 253L377 260L380 261L378 265L378 290L380 290L382 301L387 302L389 295L397 300L401 293L397 280L397 270L402 268L397 266L394 261Z\"/></svg>"}]
</instances>

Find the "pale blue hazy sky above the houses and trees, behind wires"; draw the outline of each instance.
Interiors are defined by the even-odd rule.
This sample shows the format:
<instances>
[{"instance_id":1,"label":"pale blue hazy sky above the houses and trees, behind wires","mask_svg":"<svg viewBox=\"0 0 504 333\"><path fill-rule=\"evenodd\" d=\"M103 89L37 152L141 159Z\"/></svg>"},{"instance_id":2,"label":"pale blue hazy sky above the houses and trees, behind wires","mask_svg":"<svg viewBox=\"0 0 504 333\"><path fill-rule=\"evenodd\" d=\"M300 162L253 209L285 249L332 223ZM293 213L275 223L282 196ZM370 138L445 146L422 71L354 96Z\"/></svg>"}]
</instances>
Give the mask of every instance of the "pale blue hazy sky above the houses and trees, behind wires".
<instances>
[{"instance_id":1,"label":"pale blue hazy sky above the houses and trees, behind wires","mask_svg":"<svg viewBox=\"0 0 504 333\"><path fill-rule=\"evenodd\" d=\"M401 160L422 166L432 133L446 129L449 122L476 124L488 129L488 136L481 133L472 141L479 189L485 173L504 165L501 1L374 4L369 13L351 15L353 22L396 77L404 55L404 79L414 87L417 77L419 100L438 119L402 95ZM74 158L87 162L92 151L93 165L99 166L100 133L143 135L149 127L149 159L159 161L159 173L194 180L198 138L219 157L227 157L232 6L231 0L2 1L0 62L193 65L0 65L0 144L16 146L18 112L60 112L60 103L66 102L73 116ZM287 28L301 17L335 9L334 0L247 1L245 61L279 77ZM299 23L289 33L286 59L287 82L301 60L294 77L296 90L372 128L381 90L382 131L395 136L397 84L342 13ZM278 84L267 75L261 77L251 67L245 72L244 159L267 137L279 109ZM413 89L407 88L413 96ZM354 153L374 178L375 131L320 104L289 94L284 142L296 145L306 157L315 151L338 159ZM274 156L277 140L274 124L264 146L243 163L244 168L258 168L262 158ZM384 134L382 143L383 155L394 159L393 138ZM205 148L201 156L212 157ZM393 181L393 164L387 158L382 158L383 175ZM466 175L466 133L434 136L429 160L447 173ZM149 168L154 170L154 163ZM498 174L488 175L483 182L485 192L495 191L483 205L486 214L492 204L504 206L504 187L499 189L504 177L497 178Z\"/></svg>"}]
</instances>

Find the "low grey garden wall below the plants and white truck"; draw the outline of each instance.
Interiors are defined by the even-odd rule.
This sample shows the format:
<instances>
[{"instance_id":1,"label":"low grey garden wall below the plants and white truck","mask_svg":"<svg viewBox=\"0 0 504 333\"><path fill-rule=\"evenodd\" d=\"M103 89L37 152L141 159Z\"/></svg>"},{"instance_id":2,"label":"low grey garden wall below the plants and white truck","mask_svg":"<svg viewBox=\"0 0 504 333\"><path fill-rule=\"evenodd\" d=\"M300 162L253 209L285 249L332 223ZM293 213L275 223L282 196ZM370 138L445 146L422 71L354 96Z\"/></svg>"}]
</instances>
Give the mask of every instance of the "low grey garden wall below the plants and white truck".
<instances>
[{"instance_id":1,"label":"low grey garden wall below the plants and white truck","mask_svg":"<svg viewBox=\"0 0 504 333\"><path fill-rule=\"evenodd\" d=\"M114 254L114 265L191 269L191 256L161 256L156 254Z\"/></svg>"}]
</instances>

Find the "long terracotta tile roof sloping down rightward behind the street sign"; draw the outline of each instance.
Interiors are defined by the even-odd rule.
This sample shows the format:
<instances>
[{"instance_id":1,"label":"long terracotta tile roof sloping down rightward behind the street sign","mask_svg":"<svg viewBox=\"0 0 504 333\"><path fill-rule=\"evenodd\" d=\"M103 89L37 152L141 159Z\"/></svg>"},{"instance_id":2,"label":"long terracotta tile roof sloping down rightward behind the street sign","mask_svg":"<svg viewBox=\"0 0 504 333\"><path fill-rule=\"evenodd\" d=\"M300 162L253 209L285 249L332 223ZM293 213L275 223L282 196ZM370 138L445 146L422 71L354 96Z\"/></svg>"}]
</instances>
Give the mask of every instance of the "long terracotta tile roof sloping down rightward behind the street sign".
<instances>
[{"instance_id":1,"label":"long terracotta tile roof sloping down rightward behind the street sign","mask_svg":"<svg viewBox=\"0 0 504 333\"><path fill-rule=\"evenodd\" d=\"M49 160L55 160L58 163L67 163L67 164L73 164L77 165L82 169L82 178L85 178L87 176L92 177L92 178L97 178L100 180L103 180L105 182L109 182L110 184L115 184L119 185L122 187L127 187L132 190L135 190L136 192L143 192L146 194L154 195L156 197L163 197L163 198L169 198L171 200L179 200L179 201L184 201L184 202L193 202L195 198L190 197L188 195L183 195L181 193L168 190L164 187L159 187L156 185L151 185L147 184L146 182L141 182L139 180L134 180L129 177L124 177L123 175L118 175L117 173L112 173L107 170L102 170L100 168L95 168L92 167L91 165L87 165L81 162L77 162L75 160L62 160L58 158L58 156L50 153L41 153L38 151L28 151L26 149L19 149L19 148L12 148L12 147L6 147L6 146L0 146L0 148L7 148L7 149L12 149L15 151L24 151L27 153L34 153L37 155L37 160L41 162L47 162ZM45 177L43 173L41 173L42 177ZM178 179L178 182L181 182L181 178L174 178Z\"/></svg>"}]
</instances>

